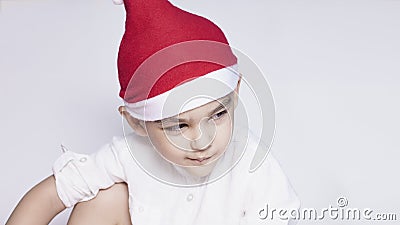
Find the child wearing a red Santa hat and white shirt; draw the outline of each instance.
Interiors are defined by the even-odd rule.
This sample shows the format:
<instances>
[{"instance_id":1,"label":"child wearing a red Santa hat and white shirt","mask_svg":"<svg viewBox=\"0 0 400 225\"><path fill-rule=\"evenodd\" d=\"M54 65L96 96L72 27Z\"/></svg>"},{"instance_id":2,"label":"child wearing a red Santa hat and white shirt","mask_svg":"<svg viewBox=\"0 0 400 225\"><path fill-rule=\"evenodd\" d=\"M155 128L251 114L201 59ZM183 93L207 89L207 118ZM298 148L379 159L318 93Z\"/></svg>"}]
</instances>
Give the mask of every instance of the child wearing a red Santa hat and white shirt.
<instances>
[{"instance_id":1,"label":"child wearing a red Santa hat and white shirt","mask_svg":"<svg viewBox=\"0 0 400 225\"><path fill-rule=\"evenodd\" d=\"M234 117L242 77L223 32L166 0L124 5L119 111L134 133L90 156L66 151L7 224L48 223L121 182L132 224L293 222L260 218L265 204L293 209L299 201L271 154L249 172L259 139Z\"/></svg>"}]
</instances>

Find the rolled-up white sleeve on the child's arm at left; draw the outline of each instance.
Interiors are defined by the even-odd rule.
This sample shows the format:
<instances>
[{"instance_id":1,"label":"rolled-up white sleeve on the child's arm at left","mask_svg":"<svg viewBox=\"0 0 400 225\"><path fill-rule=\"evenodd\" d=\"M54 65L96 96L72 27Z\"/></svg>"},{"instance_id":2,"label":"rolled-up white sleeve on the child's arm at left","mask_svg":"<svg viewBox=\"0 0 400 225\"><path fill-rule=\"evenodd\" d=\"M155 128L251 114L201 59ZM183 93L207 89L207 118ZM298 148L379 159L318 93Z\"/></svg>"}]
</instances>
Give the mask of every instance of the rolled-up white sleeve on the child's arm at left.
<instances>
[{"instance_id":1,"label":"rolled-up white sleeve on the child's arm at left","mask_svg":"<svg viewBox=\"0 0 400 225\"><path fill-rule=\"evenodd\" d=\"M91 155L67 151L56 160L53 173L57 193L66 207L90 200L100 189L126 180L119 157L122 150L115 146L104 145Z\"/></svg>"}]
</instances>

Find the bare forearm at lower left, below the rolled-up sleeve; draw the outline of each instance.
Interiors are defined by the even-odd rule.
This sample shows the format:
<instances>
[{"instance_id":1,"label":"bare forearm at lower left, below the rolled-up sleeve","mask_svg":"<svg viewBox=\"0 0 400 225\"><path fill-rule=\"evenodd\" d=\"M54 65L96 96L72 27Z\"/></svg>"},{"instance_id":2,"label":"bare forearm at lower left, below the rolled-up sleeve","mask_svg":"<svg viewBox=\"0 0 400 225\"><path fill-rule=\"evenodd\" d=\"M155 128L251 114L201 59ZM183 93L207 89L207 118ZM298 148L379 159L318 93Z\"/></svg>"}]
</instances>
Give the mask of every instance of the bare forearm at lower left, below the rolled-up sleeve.
<instances>
[{"instance_id":1,"label":"bare forearm at lower left, below the rolled-up sleeve","mask_svg":"<svg viewBox=\"0 0 400 225\"><path fill-rule=\"evenodd\" d=\"M49 176L25 194L6 225L49 224L64 209L57 195L54 176Z\"/></svg>"}]
</instances>

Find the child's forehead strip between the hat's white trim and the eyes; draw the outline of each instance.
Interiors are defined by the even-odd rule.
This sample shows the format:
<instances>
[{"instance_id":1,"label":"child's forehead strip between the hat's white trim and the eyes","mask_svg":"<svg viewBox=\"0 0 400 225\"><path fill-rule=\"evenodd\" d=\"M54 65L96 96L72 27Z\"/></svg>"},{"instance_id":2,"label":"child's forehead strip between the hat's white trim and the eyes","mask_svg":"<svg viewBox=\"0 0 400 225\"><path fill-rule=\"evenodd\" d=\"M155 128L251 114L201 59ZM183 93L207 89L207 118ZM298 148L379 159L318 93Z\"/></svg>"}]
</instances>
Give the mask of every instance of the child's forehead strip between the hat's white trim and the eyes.
<instances>
[{"instance_id":1,"label":"child's forehead strip between the hat's white trim and the eyes","mask_svg":"<svg viewBox=\"0 0 400 225\"><path fill-rule=\"evenodd\" d=\"M178 115L168 117L168 118L165 118L162 120L156 120L154 122L156 122L156 123L175 122L175 121L179 121L180 119L190 118L193 116L210 115L213 113L217 113L219 110L227 108L231 102L232 102L232 93L230 93L222 98L219 98L219 99L216 99L209 103L206 103L197 108L179 113Z\"/></svg>"}]
</instances>

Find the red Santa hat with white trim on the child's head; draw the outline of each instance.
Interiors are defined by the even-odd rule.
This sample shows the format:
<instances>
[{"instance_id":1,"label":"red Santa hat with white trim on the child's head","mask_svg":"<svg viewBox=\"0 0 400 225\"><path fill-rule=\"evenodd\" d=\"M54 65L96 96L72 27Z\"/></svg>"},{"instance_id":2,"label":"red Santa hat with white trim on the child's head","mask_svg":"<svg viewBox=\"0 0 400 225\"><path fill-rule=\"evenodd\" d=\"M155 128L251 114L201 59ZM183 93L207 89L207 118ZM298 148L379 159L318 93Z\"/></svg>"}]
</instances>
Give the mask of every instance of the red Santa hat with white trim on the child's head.
<instances>
[{"instance_id":1,"label":"red Santa hat with white trim on the child's head","mask_svg":"<svg viewBox=\"0 0 400 225\"><path fill-rule=\"evenodd\" d=\"M232 92L237 58L221 29L167 0L124 3L125 33L118 74L128 112L155 121L185 112Z\"/></svg>"}]
</instances>

